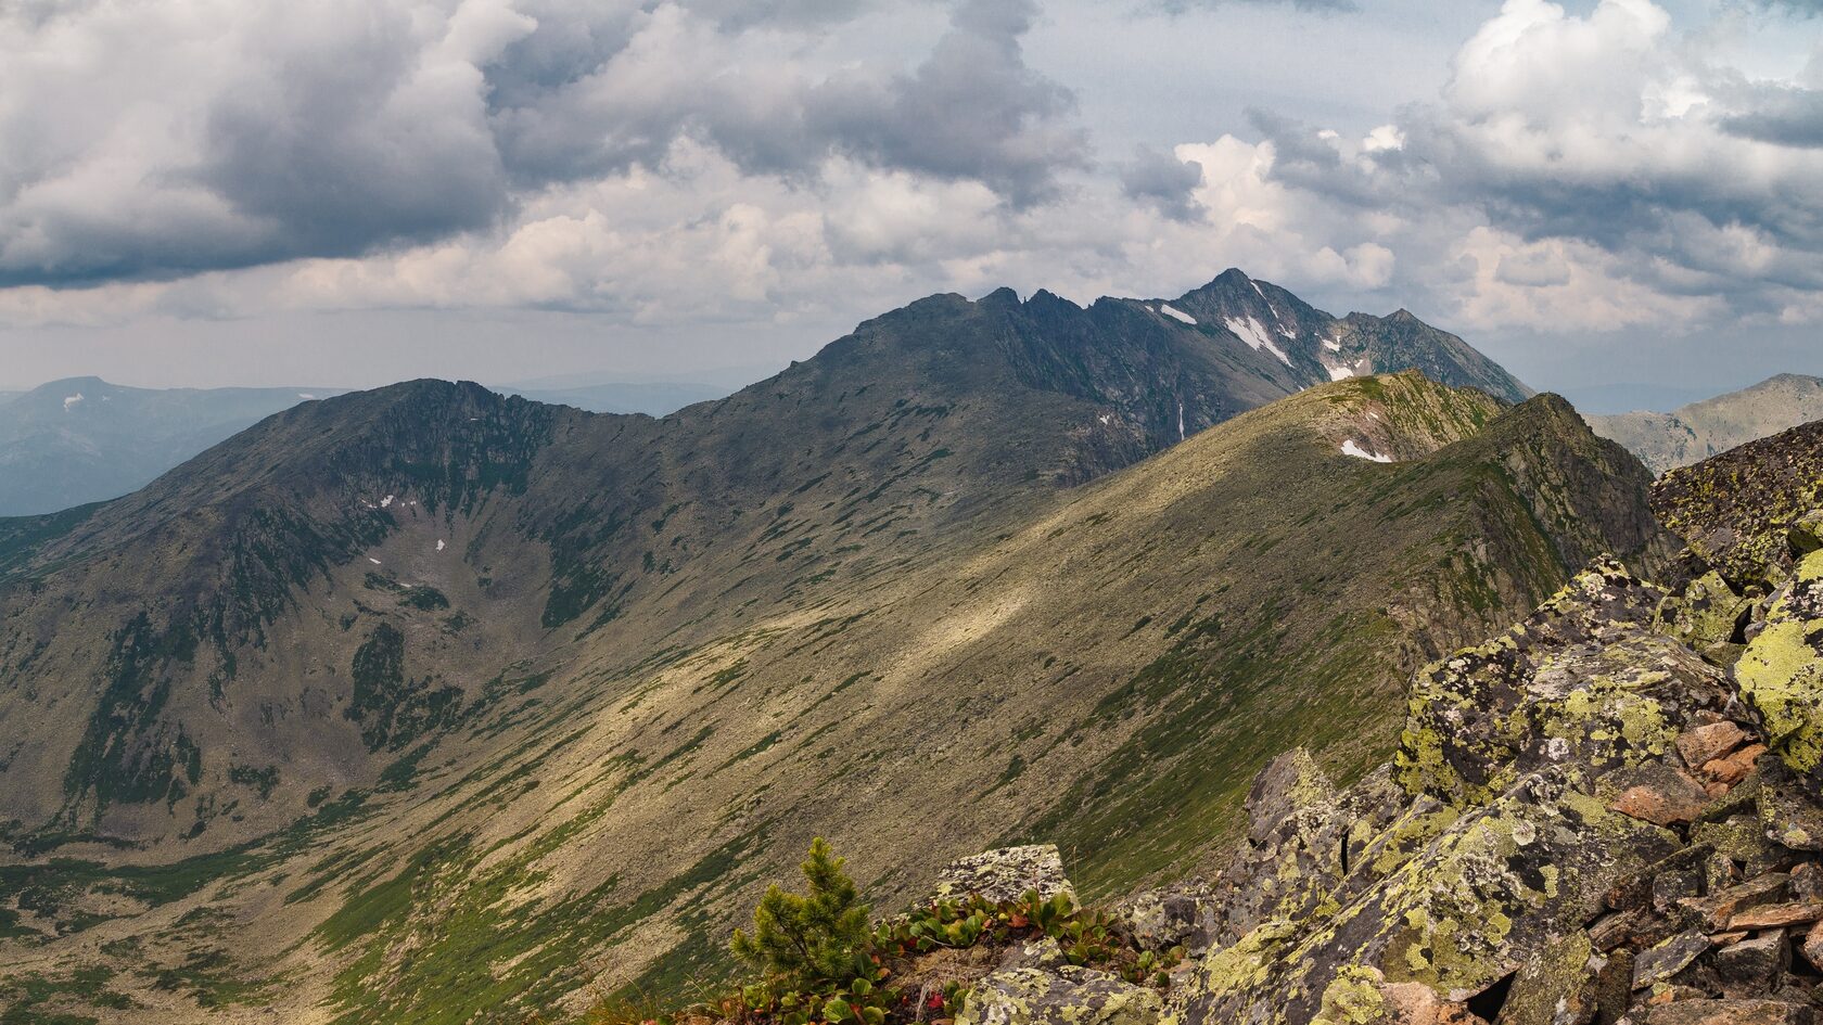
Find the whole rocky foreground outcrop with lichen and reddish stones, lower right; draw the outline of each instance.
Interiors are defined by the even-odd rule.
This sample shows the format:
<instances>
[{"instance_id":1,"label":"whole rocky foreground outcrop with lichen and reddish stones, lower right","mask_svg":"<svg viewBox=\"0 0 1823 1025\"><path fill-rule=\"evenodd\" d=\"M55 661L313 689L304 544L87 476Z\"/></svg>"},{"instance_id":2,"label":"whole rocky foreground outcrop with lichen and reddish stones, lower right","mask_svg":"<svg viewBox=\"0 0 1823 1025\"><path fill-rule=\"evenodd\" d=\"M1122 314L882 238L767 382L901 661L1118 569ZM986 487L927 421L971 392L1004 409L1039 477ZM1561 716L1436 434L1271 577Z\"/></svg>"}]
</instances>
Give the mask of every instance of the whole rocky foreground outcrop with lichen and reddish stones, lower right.
<instances>
[{"instance_id":1,"label":"whole rocky foreground outcrop with lichen and reddish stones, lower right","mask_svg":"<svg viewBox=\"0 0 1823 1025\"><path fill-rule=\"evenodd\" d=\"M1189 952L1163 994L1008 965L957 1025L1823 1020L1818 434L1661 485L1692 580L1597 562L1420 673L1378 771L1274 761L1218 879L1116 910Z\"/></svg>"}]
</instances>

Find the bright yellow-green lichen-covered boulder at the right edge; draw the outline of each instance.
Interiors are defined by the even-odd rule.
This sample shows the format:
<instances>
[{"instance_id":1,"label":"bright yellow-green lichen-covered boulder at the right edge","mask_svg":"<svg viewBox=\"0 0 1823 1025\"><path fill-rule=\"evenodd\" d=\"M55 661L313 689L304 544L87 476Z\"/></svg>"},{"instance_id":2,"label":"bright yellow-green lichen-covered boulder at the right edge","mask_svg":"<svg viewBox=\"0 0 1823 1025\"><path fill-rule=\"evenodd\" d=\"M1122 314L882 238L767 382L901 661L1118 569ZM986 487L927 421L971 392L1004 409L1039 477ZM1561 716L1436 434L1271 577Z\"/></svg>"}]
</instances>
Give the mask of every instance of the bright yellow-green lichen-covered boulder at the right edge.
<instances>
[{"instance_id":1,"label":"bright yellow-green lichen-covered boulder at the right edge","mask_svg":"<svg viewBox=\"0 0 1823 1025\"><path fill-rule=\"evenodd\" d=\"M1801 773L1823 770L1823 551L1797 565L1735 666L1766 742Z\"/></svg>"}]
</instances>

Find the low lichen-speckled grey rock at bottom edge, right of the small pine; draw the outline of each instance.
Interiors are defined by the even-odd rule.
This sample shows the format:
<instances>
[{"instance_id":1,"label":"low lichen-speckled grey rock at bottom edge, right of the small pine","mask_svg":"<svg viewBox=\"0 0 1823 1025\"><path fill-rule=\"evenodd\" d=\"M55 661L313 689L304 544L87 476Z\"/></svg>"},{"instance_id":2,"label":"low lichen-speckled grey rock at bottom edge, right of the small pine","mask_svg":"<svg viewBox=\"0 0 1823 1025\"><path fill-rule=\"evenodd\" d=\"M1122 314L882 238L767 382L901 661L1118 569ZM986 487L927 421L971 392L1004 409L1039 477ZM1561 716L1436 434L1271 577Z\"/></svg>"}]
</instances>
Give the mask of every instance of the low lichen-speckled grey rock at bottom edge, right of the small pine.
<instances>
[{"instance_id":1,"label":"low lichen-speckled grey rock at bottom edge, right of the small pine","mask_svg":"<svg viewBox=\"0 0 1823 1025\"><path fill-rule=\"evenodd\" d=\"M981 979L955 1025L1156 1025L1163 1009L1158 990L1107 972L1012 968Z\"/></svg>"}]
</instances>

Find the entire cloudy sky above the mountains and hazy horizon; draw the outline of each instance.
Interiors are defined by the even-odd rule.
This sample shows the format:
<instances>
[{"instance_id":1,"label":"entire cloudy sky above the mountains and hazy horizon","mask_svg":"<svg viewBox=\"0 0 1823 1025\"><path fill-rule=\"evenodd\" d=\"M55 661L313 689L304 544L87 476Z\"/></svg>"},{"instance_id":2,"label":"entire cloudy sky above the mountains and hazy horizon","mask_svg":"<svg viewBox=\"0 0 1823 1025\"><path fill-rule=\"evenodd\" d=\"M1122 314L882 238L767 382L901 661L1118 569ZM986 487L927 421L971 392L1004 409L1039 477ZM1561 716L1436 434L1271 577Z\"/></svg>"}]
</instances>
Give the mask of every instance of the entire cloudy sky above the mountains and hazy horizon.
<instances>
[{"instance_id":1,"label":"entire cloudy sky above the mountains and hazy horizon","mask_svg":"<svg viewBox=\"0 0 1823 1025\"><path fill-rule=\"evenodd\" d=\"M0 388L758 376L1241 266L1823 374L1823 0L0 0Z\"/></svg>"}]
</instances>

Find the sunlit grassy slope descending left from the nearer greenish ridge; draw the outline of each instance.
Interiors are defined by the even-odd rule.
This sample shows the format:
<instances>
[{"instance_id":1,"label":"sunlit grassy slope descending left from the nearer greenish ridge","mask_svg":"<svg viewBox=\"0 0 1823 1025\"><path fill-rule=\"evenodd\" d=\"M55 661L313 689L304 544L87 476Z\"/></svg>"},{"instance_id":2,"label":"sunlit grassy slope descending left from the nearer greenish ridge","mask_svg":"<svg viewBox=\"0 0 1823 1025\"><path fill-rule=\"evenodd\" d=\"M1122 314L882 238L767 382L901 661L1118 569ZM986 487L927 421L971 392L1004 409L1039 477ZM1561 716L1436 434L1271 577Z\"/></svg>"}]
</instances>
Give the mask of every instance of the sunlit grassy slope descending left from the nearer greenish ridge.
<instances>
[{"instance_id":1,"label":"sunlit grassy slope descending left from the nearer greenish ridge","mask_svg":"<svg viewBox=\"0 0 1823 1025\"><path fill-rule=\"evenodd\" d=\"M479 697L441 742L314 793L277 839L142 870L175 872L159 885L35 868L0 959L40 989L108 974L148 1021L235 1001L467 1021L716 974L727 923L813 833L888 903L1010 837L1068 844L1097 894L1207 863L1271 753L1376 761L1416 662L1599 545L1559 523L1566 494L1599 491L1579 467L1628 467L1548 399L1493 414L1416 378L1347 381L822 585L773 536L758 562L786 600L696 611L676 595L727 589L753 553L684 564L671 604L465 682ZM1413 461L1345 458L1344 438ZM386 615L416 637L448 613Z\"/></svg>"}]
</instances>

